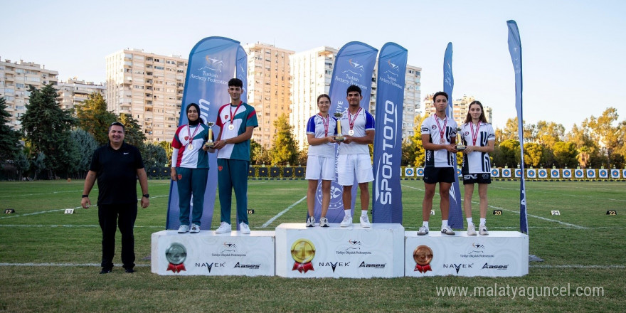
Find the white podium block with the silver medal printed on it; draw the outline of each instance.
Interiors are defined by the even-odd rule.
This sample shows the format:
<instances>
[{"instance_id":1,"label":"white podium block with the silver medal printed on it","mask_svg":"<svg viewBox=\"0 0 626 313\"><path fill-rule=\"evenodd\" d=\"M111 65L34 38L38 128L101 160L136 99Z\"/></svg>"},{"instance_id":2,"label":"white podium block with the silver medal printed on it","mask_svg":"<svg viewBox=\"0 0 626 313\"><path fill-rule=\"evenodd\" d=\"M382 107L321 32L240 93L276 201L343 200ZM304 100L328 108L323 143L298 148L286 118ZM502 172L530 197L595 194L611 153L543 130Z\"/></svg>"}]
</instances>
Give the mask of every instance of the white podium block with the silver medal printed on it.
<instances>
[{"instance_id":1,"label":"white podium block with the silver medal printed on it","mask_svg":"<svg viewBox=\"0 0 626 313\"><path fill-rule=\"evenodd\" d=\"M152 272L159 275L275 275L274 231L250 235L213 230L152 234Z\"/></svg>"}]
</instances>

